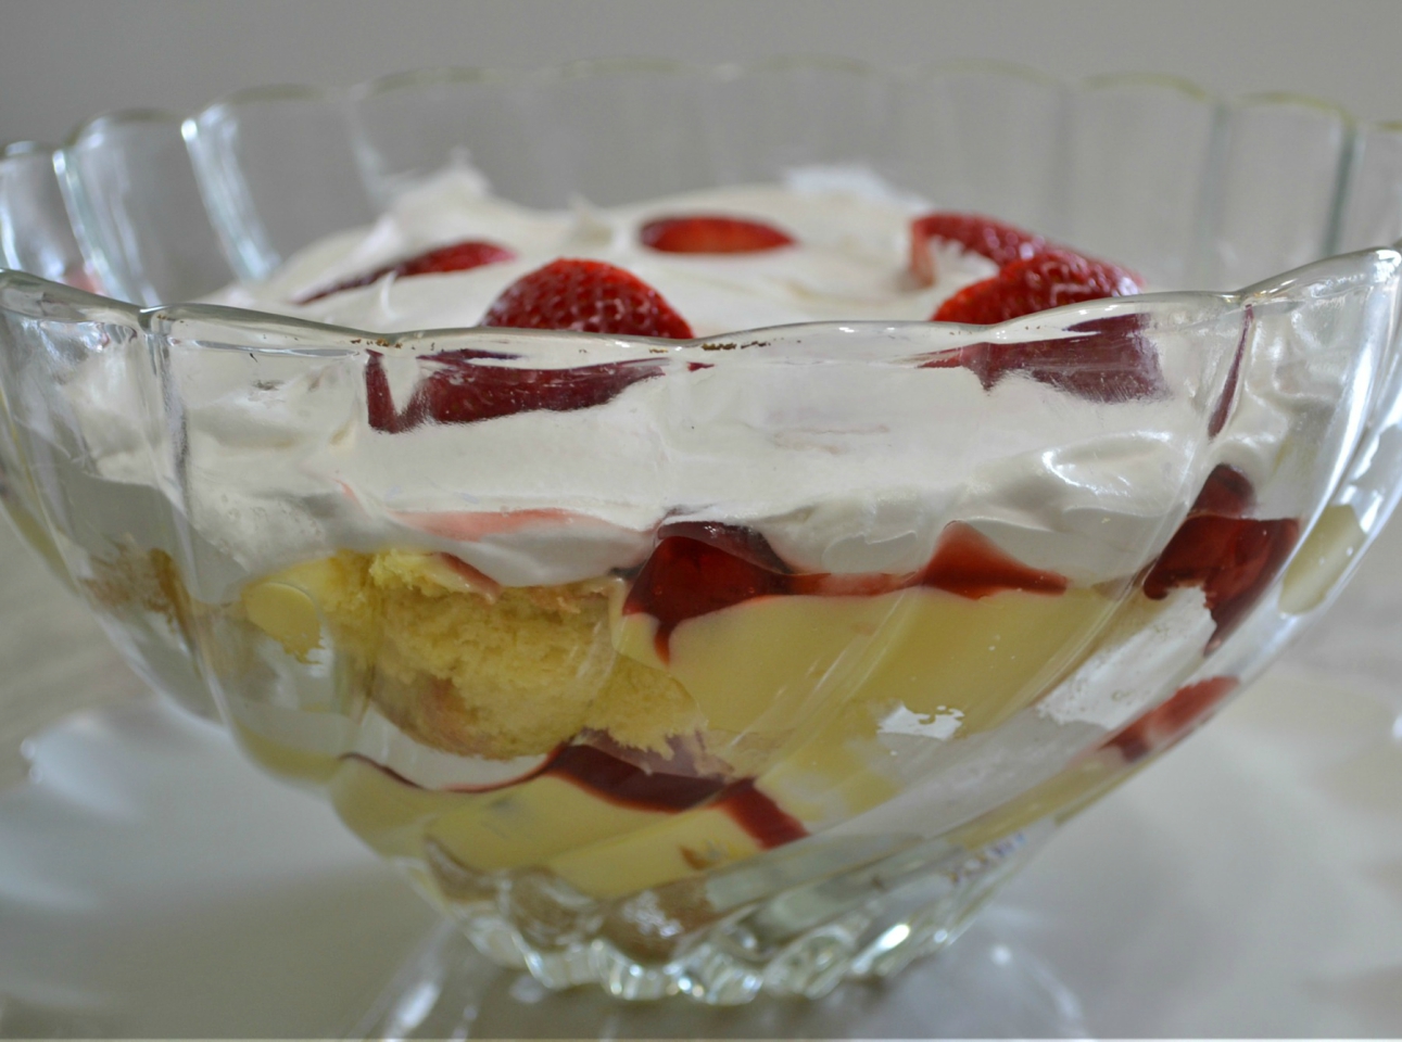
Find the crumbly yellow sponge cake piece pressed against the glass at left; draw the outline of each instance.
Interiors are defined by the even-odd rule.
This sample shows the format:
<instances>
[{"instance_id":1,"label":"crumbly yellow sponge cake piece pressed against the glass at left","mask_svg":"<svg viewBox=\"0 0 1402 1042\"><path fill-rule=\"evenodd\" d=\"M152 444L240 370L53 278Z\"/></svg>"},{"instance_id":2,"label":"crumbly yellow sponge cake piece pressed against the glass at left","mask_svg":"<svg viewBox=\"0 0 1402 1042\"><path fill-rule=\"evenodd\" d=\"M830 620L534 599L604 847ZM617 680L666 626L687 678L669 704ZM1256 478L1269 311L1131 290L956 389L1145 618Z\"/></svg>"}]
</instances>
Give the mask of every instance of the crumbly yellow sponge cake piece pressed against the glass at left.
<instances>
[{"instance_id":1,"label":"crumbly yellow sponge cake piece pressed against the glass at left","mask_svg":"<svg viewBox=\"0 0 1402 1042\"><path fill-rule=\"evenodd\" d=\"M700 721L676 681L614 653L610 585L495 588L436 553L342 552L248 587L243 606L297 658L329 636L384 716L425 745L506 759L593 728L665 751Z\"/></svg>"}]
</instances>

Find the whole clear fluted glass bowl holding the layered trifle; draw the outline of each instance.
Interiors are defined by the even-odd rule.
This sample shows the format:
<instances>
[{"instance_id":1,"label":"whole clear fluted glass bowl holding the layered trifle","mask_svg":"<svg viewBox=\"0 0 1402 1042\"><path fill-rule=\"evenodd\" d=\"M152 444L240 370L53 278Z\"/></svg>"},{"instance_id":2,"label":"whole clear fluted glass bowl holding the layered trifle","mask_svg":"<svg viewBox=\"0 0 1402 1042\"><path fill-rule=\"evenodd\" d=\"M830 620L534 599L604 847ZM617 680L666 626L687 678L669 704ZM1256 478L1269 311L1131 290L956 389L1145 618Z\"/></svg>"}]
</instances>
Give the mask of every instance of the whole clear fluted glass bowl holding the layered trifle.
<instances>
[{"instance_id":1,"label":"whole clear fluted glass bowl holding the layered trifle","mask_svg":"<svg viewBox=\"0 0 1402 1042\"><path fill-rule=\"evenodd\" d=\"M656 268L681 314L780 286L805 321L474 325L531 263L481 300L492 265L390 270L464 178L646 265L639 227L740 186L901 234L875 303L815 289L803 234ZM967 66L107 116L0 162L4 503L154 686L489 958L816 997L949 944L1332 599L1399 487L1399 183L1394 130L1314 102ZM906 270L932 203L1154 291L930 321L988 275Z\"/></svg>"}]
</instances>

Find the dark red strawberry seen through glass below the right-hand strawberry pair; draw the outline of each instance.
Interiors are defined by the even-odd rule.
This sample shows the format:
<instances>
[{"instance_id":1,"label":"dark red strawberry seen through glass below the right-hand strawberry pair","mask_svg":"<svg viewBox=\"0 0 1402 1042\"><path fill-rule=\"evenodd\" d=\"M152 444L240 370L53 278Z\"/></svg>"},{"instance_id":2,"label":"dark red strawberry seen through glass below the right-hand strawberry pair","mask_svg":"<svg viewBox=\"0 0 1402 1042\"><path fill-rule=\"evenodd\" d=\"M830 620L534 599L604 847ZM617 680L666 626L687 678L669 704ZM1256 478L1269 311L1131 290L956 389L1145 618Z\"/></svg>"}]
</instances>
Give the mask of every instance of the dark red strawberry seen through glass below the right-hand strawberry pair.
<instances>
[{"instance_id":1,"label":"dark red strawberry seen through glass below the right-hand strawberry pair","mask_svg":"<svg viewBox=\"0 0 1402 1042\"><path fill-rule=\"evenodd\" d=\"M984 389L1008 373L1026 373L1096 402L1152 398L1162 392L1164 375L1140 328L1138 315L1106 315L1067 326L1067 335L1054 340L972 343L925 363L925 368L967 368Z\"/></svg>"}]
</instances>

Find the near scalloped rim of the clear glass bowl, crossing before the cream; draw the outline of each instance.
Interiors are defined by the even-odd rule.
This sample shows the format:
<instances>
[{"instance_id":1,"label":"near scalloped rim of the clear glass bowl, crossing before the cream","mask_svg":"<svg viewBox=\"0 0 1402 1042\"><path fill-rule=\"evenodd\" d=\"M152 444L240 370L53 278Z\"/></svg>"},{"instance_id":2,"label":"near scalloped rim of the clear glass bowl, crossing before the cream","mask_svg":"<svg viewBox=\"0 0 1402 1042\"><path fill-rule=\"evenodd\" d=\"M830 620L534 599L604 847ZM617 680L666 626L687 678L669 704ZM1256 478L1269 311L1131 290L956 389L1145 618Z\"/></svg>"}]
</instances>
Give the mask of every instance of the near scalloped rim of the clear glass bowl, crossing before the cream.
<instances>
[{"instance_id":1,"label":"near scalloped rim of the clear glass bowl, crossing before the cream","mask_svg":"<svg viewBox=\"0 0 1402 1042\"><path fill-rule=\"evenodd\" d=\"M1168 315L1178 312L1179 318L1171 325L1176 331L1189 329L1199 322L1211 321L1224 311L1239 308L1245 304L1279 297L1286 293L1298 293L1301 287L1311 284L1338 284L1346 280L1382 282L1387 275L1384 269L1394 272L1402 268L1402 242L1394 246L1377 249L1360 249L1352 253L1314 260L1279 276L1265 279L1235 293L1209 291L1169 291L1169 293L1141 293L1133 297L1106 297L1105 300L1089 301L1087 304L1068 304L1060 308L1037 311L1032 315L1015 318L1001 325L980 326L962 325L955 322L808 322L780 326L758 326L753 329L736 329L718 336L693 338L688 340L659 339L651 336L618 336L611 333L583 333L575 331L552 329L513 329L508 326L457 326L439 329L407 329L393 333L356 329L353 326L338 326L325 322L311 322L290 315L279 315L265 311L226 307L222 304L161 304L157 307L139 308L135 304L88 293L86 290L66 286L63 283L42 279L27 272L0 269L0 308L25 314L34 318L48 318L66 322L109 322L116 315L118 321L132 326L150 329L158 324L172 322L206 322L220 329L244 329L261 338L280 338L283 340L301 340L303 343L241 343L240 350L255 350L282 354L359 354L374 349L404 349L407 354L419 354L435 350L435 340L485 340L491 343L509 343L512 349L522 352L516 357L530 357L533 364L545 367L568 368L575 364L597 364L607 359L600 359L600 352L590 352L585 361L571 361L558 366L559 353L536 353L533 346L545 346L552 342L566 340L576 345L579 350L590 346L603 350L618 352L621 359L628 357L687 357L691 353L704 354L711 364L723 364L728 357L736 357L746 347L764 347L765 336L782 335L782 339L792 343L802 340L803 333L815 338L857 338L864 342L886 340L892 345L914 343L917 339L931 336L945 340L938 347L924 346L917 353L896 354L892 357L878 357L872 361L917 361L924 360L934 352L949 350L974 342L995 343L1026 343L1054 339L1057 333L1074 332L1071 328L1078 322L1094 318L1109 318L1122 314L1157 314ZM45 310L42 314L34 308L17 307L13 296L21 294L29 300L42 296L46 304L57 304L66 311ZM732 339L747 339L753 343L733 345ZM775 338L777 339L777 338ZM308 346L308 343L317 346ZM456 349L456 347L454 347ZM533 357L534 356L534 357ZM753 356L749 356L753 357ZM773 357L773 356L771 356ZM810 356L817 360L820 356ZM844 356L844 357L851 357ZM495 360L494 360L495 361ZM554 363L554 364L551 364Z\"/></svg>"}]
</instances>

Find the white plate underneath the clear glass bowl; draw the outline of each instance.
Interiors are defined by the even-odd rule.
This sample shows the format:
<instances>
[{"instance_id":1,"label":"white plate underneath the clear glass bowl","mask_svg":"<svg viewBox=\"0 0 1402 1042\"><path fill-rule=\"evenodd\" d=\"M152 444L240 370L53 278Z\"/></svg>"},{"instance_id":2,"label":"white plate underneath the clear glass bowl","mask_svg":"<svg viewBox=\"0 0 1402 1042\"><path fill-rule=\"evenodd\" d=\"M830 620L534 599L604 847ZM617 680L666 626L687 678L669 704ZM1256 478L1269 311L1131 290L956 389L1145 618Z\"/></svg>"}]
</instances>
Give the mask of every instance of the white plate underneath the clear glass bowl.
<instances>
[{"instance_id":1,"label":"white plate underneath the clear glass bowl","mask_svg":"<svg viewBox=\"0 0 1402 1042\"><path fill-rule=\"evenodd\" d=\"M1395 731L1357 686L1277 669L1071 822L944 958L816 1007L718 1013L489 968L215 727L104 709L34 741L32 782L0 793L0 1036L335 1036L376 1017L460 1036L1396 1035Z\"/></svg>"}]
</instances>

